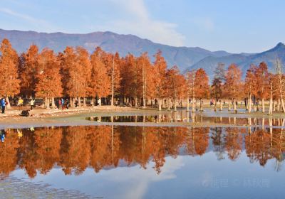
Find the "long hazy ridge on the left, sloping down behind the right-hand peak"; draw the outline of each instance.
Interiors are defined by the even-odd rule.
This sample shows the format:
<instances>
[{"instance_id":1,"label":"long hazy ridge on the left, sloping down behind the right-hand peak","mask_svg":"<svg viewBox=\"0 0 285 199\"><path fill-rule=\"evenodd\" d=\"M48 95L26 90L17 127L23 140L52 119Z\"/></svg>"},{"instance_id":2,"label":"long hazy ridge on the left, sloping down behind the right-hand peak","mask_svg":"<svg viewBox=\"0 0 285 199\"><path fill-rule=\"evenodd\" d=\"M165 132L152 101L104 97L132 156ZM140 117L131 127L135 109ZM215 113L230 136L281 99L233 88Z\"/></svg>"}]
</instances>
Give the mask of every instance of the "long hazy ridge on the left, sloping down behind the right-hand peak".
<instances>
[{"instance_id":1,"label":"long hazy ridge on the left, sloping down behind the right-hand peak","mask_svg":"<svg viewBox=\"0 0 285 199\"><path fill-rule=\"evenodd\" d=\"M100 46L110 53L118 51L125 56L128 53L140 55L148 52L150 58L157 50L162 50L167 63L170 66L178 65L180 70L185 70L191 65L207 56L221 57L230 55L225 51L211 52L203 48L172 47L153 43L150 40L138 38L133 35L119 35L111 32L94 32L87 34L67 34L67 33L37 33L34 31L5 31L0 29L0 40L8 38L13 47L19 52L24 52L31 43L38 45L40 49L48 47L56 52L64 50L67 45L81 45L90 53Z\"/></svg>"}]
</instances>

